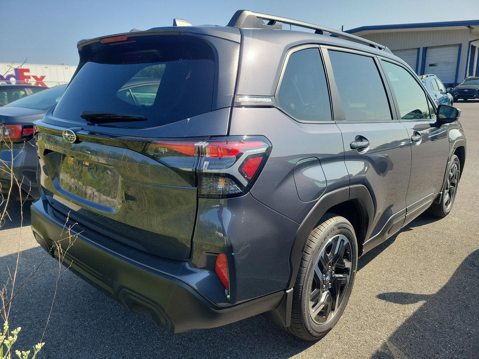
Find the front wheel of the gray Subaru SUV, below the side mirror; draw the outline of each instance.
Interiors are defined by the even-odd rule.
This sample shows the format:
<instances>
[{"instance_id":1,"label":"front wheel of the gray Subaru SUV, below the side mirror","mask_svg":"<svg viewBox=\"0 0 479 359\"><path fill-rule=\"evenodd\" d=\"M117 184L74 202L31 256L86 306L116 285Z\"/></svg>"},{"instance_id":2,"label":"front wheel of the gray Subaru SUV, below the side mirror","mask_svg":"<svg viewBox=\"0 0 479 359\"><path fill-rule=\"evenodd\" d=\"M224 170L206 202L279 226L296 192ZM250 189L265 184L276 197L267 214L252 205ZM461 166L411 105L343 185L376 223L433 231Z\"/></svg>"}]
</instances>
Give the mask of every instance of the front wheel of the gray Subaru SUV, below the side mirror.
<instances>
[{"instance_id":1,"label":"front wheel of the gray Subaru SUV, below the side mirror","mask_svg":"<svg viewBox=\"0 0 479 359\"><path fill-rule=\"evenodd\" d=\"M443 194L439 203L431 204L428 213L443 218L451 212L454 200L456 199L457 186L461 174L461 163L456 155L451 157L449 166L447 166L447 177L443 183Z\"/></svg>"}]
</instances>

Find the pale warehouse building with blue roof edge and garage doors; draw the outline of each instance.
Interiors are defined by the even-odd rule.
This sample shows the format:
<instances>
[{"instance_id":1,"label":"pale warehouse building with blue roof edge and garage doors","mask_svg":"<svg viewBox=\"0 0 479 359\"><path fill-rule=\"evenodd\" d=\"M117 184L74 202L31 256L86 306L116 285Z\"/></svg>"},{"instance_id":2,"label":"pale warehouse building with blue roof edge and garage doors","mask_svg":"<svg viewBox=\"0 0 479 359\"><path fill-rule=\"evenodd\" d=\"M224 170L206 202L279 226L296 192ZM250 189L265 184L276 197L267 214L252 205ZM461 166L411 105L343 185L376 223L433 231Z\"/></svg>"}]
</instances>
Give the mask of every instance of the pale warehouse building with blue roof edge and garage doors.
<instances>
[{"instance_id":1,"label":"pale warehouse building with blue roof edge and garage doors","mask_svg":"<svg viewBox=\"0 0 479 359\"><path fill-rule=\"evenodd\" d=\"M479 76L479 20L363 26L346 32L388 46L418 75L435 74L445 85Z\"/></svg>"}]
</instances>

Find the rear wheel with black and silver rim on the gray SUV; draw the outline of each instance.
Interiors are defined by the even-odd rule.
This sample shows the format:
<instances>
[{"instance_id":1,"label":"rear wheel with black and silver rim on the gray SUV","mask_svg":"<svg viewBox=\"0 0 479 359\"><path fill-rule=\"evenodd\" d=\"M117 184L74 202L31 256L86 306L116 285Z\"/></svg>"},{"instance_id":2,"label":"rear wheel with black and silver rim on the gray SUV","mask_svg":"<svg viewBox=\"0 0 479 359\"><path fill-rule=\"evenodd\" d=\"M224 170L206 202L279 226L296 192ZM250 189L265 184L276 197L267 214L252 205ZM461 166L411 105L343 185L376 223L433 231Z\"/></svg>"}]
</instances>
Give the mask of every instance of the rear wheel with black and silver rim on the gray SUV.
<instances>
[{"instance_id":1,"label":"rear wheel with black and silver rim on the gray SUV","mask_svg":"<svg viewBox=\"0 0 479 359\"><path fill-rule=\"evenodd\" d=\"M288 332L305 340L319 340L328 334L348 303L357 258L351 223L335 214L324 215L303 250Z\"/></svg>"}]
</instances>

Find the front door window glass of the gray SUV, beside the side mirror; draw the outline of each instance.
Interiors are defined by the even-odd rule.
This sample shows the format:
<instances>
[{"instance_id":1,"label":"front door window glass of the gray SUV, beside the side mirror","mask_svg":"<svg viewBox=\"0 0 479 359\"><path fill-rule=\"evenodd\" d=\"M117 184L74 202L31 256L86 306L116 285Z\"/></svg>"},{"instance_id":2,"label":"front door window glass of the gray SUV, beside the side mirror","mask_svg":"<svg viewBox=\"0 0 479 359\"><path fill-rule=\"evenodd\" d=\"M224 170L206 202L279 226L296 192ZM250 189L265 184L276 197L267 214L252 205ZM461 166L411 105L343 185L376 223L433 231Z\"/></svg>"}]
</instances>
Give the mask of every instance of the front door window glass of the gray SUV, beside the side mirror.
<instances>
[{"instance_id":1,"label":"front door window glass of the gray SUV, beside the side mirror","mask_svg":"<svg viewBox=\"0 0 479 359\"><path fill-rule=\"evenodd\" d=\"M426 94L419 83L403 67L381 60L396 95L403 120L431 119Z\"/></svg>"}]
</instances>

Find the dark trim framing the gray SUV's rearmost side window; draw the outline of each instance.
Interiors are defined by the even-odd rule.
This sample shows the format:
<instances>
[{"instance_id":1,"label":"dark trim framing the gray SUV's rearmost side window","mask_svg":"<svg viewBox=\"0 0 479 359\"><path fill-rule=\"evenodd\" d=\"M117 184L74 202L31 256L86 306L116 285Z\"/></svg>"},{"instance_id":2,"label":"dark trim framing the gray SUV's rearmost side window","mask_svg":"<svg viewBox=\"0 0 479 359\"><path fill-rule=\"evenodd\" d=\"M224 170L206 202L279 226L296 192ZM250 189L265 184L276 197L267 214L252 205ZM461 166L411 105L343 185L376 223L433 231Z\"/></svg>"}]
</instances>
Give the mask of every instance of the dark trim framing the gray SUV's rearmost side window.
<instances>
[{"instance_id":1,"label":"dark trim framing the gray SUV's rearmost side window","mask_svg":"<svg viewBox=\"0 0 479 359\"><path fill-rule=\"evenodd\" d=\"M298 52L298 51L301 51L301 50L307 50L307 49L317 49L318 50L318 56L319 56L319 59L321 60L322 62L322 65L323 65L323 70L324 70L324 75L325 75L325 78L326 78L326 86L328 88L328 97L329 97L329 101L330 101L330 111L331 111L331 120L328 120L328 121L306 121L306 120L300 120L296 117L294 117L293 115L291 115L290 113L286 112L286 110L282 109L281 106L279 105L279 101L278 101L278 93L279 93L279 90L281 88L281 84L283 82L283 76L285 74L285 70L286 70L286 66L288 65L288 61L289 61L289 57L294 54L295 52ZM330 80L328 79L328 72L326 70L326 65L325 65L325 60L321 54L321 45L319 44L302 44L302 45L299 45L299 46L295 46L295 47L292 47L290 49L288 49L286 51L286 55L284 57L284 60L283 60L283 64L281 65L281 72L280 72L280 75L279 75L279 78L278 78L278 81L276 83L276 88L274 90L274 102L275 102L275 107L280 110L281 112L283 112L286 116L292 118L293 120L299 122L299 123L335 123L334 122L334 111L335 109L333 108L333 101L332 101L332 98L331 98L331 88L330 88Z\"/></svg>"}]
</instances>

